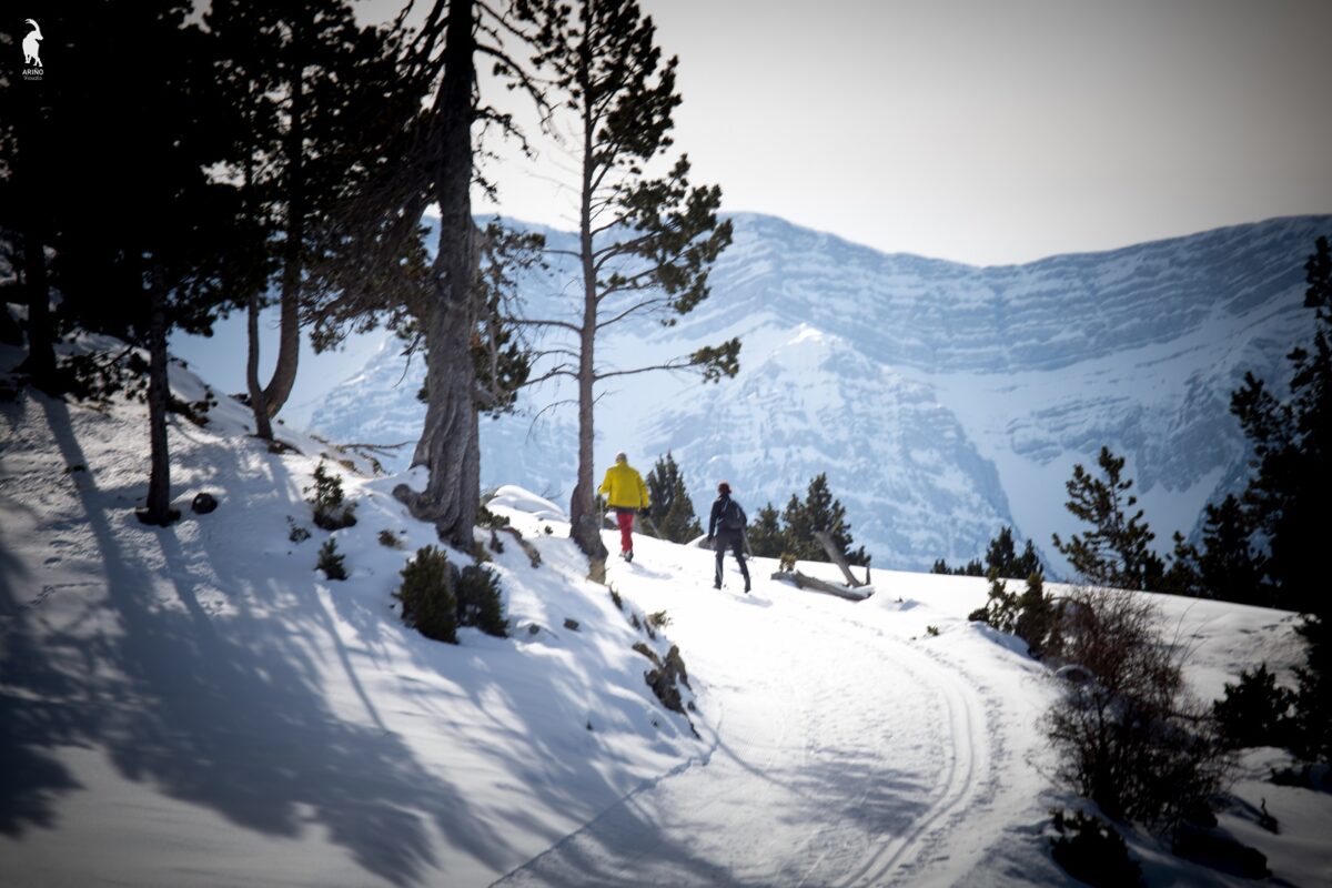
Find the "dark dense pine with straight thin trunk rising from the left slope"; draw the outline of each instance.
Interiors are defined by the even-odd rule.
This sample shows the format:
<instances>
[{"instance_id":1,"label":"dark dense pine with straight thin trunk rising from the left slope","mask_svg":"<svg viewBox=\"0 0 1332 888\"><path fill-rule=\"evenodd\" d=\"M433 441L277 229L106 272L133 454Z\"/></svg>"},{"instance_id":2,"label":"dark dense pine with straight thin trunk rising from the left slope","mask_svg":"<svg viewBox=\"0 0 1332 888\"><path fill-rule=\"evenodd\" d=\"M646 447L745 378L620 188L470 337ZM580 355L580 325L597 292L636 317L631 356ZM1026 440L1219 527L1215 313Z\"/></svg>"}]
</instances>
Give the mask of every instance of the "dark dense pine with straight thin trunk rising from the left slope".
<instances>
[{"instance_id":1,"label":"dark dense pine with straight thin trunk rising from the left slope","mask_svg":"<svg viewBox=\"0 0 1332 888\"><path fill-rule=\"evenodd\" d=\"M40 273L49 270L59 282L61 322L149 353L149 482L140 517L153 525L174 515L166 337L173 328L209 332L229 308L238 260L232 250L240 249L232 238L241 216L237 189L205 172L221 160L216 128L230 112L212 77L213 41L189 24L192 15L189 3L174 0L53 7L44 24L60 35L57 93L36 109L40 126L20 129L17 142L8 142L19 160L36 148L44 169L60 170L28 245L53 249L51 268ZM155 51L125 53L127 45ZM11 80L5 89L15 85L31 84ZM100 140L93 164L89 133L132 137ZM28 136L36 142L25 144Z\"/></svg>"}]
</instances>

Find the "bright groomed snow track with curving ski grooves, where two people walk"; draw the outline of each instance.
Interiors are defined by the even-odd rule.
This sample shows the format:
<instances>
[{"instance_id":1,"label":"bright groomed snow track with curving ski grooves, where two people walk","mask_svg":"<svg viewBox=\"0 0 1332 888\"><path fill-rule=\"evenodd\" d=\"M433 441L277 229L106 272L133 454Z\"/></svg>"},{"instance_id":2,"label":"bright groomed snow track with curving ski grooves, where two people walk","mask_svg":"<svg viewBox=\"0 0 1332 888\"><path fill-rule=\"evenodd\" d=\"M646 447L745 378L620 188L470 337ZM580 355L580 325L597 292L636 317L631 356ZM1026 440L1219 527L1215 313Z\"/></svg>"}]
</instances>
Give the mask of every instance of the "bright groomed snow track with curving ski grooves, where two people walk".
<instances>
[{"instance_id":1,"label":"bright groomed snow track with curving ski grooves, where two people walk","mask_svg":"<svg viewBox=\"0 0 1332 888\"><path fill-rule=\"evenodd\" d=\"M954 884L1031 805L999 776L998 692L951 639L911 634L910 600L802 592L767 562L746 596L730 559L718 592L711 553L637 549L610 583L626 607L666 610L705 751L496 884Z\"/></svg>"}]
</instances>

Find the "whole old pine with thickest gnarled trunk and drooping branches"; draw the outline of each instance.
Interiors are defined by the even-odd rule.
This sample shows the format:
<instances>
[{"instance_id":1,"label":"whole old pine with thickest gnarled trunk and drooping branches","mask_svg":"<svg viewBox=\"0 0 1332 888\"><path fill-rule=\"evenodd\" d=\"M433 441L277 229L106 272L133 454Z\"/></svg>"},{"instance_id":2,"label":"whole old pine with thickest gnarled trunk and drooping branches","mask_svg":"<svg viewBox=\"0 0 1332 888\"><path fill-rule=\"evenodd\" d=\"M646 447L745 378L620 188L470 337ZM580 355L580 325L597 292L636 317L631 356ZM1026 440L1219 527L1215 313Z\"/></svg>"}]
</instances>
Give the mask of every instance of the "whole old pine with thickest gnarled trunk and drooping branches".
<instances>
[{"instance_id":1,"label":"whole old pine with thickest gnarled trunk and drooping branches","mask_svg":"<svg viewBox=\"0 0 1332 888\"><path fill-rule=\"evenodd\" d=\"M390 116L376 129L386 129L385 148L372 161L377 176L364 194L349 198L350 210L338 213L333 226L338 242L362 252L362 266L370 272L364 284L348 288L349 302L382 310L373 290L385 282L405 302L416 301L409 308L425 346L426 411L412 463L426 466L430 478L422 491L398 485L393 495L414 518L432 522L441 541L460 549L472 547L481 506L480 414L489 406L474 349L488 301L481 280L484 236L472 216L478 178L473 130L482 121L513 130L511 117L481 103L477 56L494 60L538 105L543 103L503 49L501 36L523 39L522 28L530 23L530 4L513 12L501 17L478 0L440 0L432 7L412 43L404 81L412 91L434 84L433 101L424 108L425 97L416 93L406 104L386 101ZM432 201L440 209L440 242L429 273L422 273L421 218ZM346 284L349 277L341 280Z\"/></svg>"}]
</instances>

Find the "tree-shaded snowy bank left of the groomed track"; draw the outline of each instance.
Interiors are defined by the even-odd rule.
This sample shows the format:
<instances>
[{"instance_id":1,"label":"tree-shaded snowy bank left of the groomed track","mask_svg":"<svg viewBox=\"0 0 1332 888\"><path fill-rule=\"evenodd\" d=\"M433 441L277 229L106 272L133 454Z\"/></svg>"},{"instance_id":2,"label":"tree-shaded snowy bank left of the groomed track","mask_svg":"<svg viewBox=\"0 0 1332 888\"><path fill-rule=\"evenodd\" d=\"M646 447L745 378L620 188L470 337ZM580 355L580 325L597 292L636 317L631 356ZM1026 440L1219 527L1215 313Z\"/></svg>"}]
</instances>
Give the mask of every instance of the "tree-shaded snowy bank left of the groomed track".
<instances>
[{"instance_id":1,"label":"tree-shaded snowy bank left of the groomed track","mask_svg":"<svg viewBox=\"0 0 1332 888\"><path fill-rule=\"evenodd\" d=\"M3 419L0 884L485 884L706 751L565 539L535 541L539 571L496 556L513 639L444 646L392 610L432 542L388 495L400 479L345 475L360 522L329 582L310 438L269 454L226 399L173 423L185 518L157 530L131 511L141 406L24 393ZM216 513L189 511L201 490ZM314 538L292 543L289 517Z\"/></svg>"}]
</instances>

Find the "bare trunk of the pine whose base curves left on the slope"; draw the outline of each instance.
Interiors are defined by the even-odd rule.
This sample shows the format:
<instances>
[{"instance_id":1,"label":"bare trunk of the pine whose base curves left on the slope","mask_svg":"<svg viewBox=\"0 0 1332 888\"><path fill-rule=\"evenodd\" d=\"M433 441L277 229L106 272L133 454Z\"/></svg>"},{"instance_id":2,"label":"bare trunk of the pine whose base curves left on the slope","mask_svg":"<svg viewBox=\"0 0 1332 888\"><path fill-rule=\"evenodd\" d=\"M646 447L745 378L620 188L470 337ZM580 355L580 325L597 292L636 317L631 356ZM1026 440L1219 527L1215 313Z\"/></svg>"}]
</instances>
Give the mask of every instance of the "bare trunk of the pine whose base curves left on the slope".
<instances>
[{"instance_id":1,"label":"bare trunk of the pine whose base curves left on the slope","mask_svg":"<svg viewBox=\"0 0 1332 888\"><path fill-rule=\"evenodd\" d=\"M297 29L292 35L292 121L286 132L286 241L282 245L282 297L277 366L264 389L269 417L276 417L292 394L301 357L301 272L305 250L305 47Z\"/></svg>"}]
</instances>

